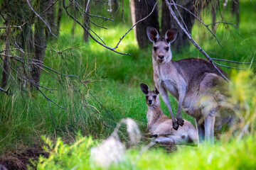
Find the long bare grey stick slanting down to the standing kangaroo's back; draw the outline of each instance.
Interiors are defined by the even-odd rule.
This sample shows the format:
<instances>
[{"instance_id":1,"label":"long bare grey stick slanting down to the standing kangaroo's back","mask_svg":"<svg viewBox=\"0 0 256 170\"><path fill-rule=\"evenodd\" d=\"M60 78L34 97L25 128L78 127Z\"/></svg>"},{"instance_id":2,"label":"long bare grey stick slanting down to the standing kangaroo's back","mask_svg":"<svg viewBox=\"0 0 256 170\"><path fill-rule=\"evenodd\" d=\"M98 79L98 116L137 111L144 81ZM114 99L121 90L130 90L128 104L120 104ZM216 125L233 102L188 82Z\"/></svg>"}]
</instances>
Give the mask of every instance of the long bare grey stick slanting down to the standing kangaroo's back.
<instances>
[{"instance_id":1,"label":"long bare grey stick slanting down to the standing kangaroo's back","mask_svg":"<svg viewBox=\"0 0 256 170\"><path fill-rule=\"evenodd\" d=\"M218 69L218 67L215 66L215 64L214 64L213 61L211 60L211 57L195 42L195 40L193 40L193 38L191 37L191 35L186 31L186 29L185 29L185 28L181 25L181 23L178 21L178 18L176 17L176 15L175 15L173 9L171 8L171 4L169 3L169 1L168 1L168 0L165 0L165 1L166 1L166 4L167 4L168 8L169 8L169 11L170 11L170 13L171 13L171 16L173 16L174 20L176 21L176 23L178 23L178 26L181 28L181 30L183 30L183 32L187 35L188 39L193 43L193 45L195 45L195 47L196 47L200 52L202 52L202 54L203 54L204 56L206 56L206 58L211 62L211 64L213 64L213 67L215 67L215 69L220 73L220 75L221 75L224 79L226 79L227 81L229 81L228 78L225 77L225 75L224 75L222 72L220 72L220 69ZM174 3L174 0L171 0L171 1L173 2L173 4L175 4L175 3Z\"/></svg>"}]
</instances>

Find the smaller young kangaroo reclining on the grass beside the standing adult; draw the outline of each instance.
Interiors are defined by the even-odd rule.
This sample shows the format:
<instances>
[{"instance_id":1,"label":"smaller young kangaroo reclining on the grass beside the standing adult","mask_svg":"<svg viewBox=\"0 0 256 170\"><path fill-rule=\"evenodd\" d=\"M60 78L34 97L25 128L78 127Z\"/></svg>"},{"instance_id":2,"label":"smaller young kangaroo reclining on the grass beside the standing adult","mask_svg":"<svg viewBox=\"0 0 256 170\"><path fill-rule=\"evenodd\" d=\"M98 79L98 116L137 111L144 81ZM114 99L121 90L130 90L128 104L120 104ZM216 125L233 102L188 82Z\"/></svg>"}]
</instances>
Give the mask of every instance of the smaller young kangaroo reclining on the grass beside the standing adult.
<instances>
[{"instance_id":1,"label":"smaller young kangaroo reclining on the grass beside the standing adult","mask_svg":"<svg viewBox=\"0 0 256 170\"><path fill-rule=\"evenodd\" d=\"M193 125L184 120L184 125L178 130L171 126L172 120L168 118L160 108L159 91L155 88L150 91L149 86L140 84L142 92L146 95L147 126L152 137L156 137L156 142L164 145L177 145L188 142L197 143L198 137Z\"/></svg>"}]
</instances>

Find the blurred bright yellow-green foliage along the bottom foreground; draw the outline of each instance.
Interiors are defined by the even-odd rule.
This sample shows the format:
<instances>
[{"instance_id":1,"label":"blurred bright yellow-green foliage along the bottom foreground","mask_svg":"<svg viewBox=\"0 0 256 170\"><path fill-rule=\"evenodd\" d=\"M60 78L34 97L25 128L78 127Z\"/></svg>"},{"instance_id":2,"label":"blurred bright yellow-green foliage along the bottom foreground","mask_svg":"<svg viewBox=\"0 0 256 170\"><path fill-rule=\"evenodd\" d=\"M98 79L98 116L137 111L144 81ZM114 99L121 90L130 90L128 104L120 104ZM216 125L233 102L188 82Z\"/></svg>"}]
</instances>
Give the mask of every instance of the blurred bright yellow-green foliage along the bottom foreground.
<instances>
[{"instance_id":1,"label":"blurred bright yellow-green foliage along the bottom foreground","mask_svg":"<svg viewBox=\"0 0 256 170\"><path fill-rule=\"evenodd\" d=\"M168 153L163 149L128 149L125 159L112 164L110 169L255 169L255 135L242 141L218 142L214 146L178 147ZM50 152L48 158L40 157L37 169L101 169L90 162L90 148L95 145L92 137L79 137L72 145L58 139L53 145L44 138Z\"/></svg>"}]
</instances>

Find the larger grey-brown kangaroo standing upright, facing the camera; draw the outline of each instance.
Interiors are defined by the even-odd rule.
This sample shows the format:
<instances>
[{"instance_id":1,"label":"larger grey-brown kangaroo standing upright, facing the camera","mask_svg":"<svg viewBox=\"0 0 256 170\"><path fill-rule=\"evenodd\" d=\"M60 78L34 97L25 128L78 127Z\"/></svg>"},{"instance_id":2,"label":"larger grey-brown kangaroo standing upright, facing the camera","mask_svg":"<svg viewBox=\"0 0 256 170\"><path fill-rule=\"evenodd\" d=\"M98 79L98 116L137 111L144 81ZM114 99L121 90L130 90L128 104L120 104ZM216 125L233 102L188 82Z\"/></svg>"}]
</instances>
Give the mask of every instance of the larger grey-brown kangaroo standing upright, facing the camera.
<instances>
[{"instance_id":1,"label":"larger grey-brown kangaroo standing upright, facing the camera","mask_svg":"<svg viewBox=\"0 0 256 170\"><path fill-rule=\"evenodd\" d=\"M220 128L223 123L231 125L233 120L233 115L220 108L226 96L215 90L227 84L227 81L206 60L188 58L172 61L170 44L176 39L176 29L167 30L164 38L152 27L146 28L146 33L153 42L154 82L171 113L174 129L183 125L182 107L196 120L199 142L206 139L213 143L214 128ZM225 74L221 69L220 72ZM176 118L171 111L168 92L178 101Z\"/></svg>"}]
</instances>

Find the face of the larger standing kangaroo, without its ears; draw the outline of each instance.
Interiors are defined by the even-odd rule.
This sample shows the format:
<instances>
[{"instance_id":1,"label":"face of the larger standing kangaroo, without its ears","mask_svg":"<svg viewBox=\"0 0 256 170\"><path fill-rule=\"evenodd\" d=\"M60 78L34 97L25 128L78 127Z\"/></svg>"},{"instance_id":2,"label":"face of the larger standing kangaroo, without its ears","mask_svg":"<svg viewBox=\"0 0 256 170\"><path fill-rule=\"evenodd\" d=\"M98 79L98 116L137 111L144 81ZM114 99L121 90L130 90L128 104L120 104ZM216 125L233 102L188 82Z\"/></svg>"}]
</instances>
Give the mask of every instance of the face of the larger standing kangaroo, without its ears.
<instances>
[{"instance_id":1,"label":"face of the larger standing kangaroo, without its ears","mask_svg":"<svg viewBox=\"0 0 256 170\"><path fill-rule=\"evenodd\" d=\"M154 60L159 63L171 61L172 55L170 45L165 40L160 39L159 41L154 43L152 54Z\"/></svg>"}]
</instances>

